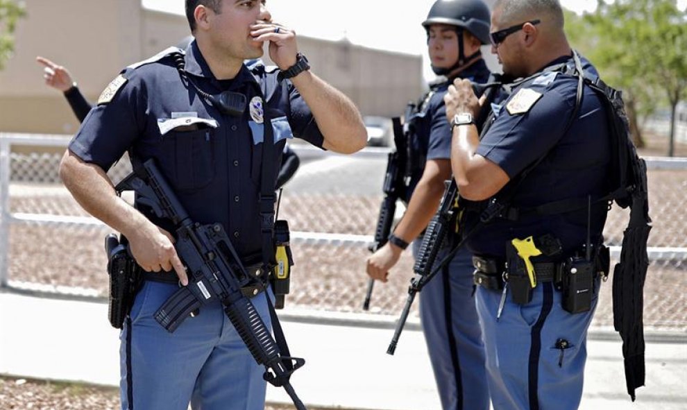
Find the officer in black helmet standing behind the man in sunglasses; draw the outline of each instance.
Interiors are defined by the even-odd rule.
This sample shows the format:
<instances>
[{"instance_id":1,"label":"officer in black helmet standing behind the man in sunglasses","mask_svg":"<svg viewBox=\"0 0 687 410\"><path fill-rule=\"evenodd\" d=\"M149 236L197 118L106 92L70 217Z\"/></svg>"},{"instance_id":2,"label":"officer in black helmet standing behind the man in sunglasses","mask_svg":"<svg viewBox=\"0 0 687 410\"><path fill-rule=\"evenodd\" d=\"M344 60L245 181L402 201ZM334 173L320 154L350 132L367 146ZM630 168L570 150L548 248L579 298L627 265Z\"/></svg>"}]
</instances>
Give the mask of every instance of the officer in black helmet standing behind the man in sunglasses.
<instances>
[{"instance_id":1,"label":"officer in black helmet standing behind the man in sunglasses","mask_svg":"<svg viewBox=\"0 0 687 410\"><path fill-rule=\"evenodd\" d=\"M489 44L489 8L482 0L438 0L423 22L432 70L446 76L418 103L411 123L416 169L411 173L407 211L386 245L368 257L367 273L387 281L389 269L421 234L439 207L444 181L451 178L450 124L443 95L454 78L486 83L489 69L480 46ZM414 240L418 239L418 240ZM448 249L439 253L443 259ZM420 293L420 316L443 409L489 409L484 345L473 298L472 262L458 253Z\"/></svg>"}]
</instances>

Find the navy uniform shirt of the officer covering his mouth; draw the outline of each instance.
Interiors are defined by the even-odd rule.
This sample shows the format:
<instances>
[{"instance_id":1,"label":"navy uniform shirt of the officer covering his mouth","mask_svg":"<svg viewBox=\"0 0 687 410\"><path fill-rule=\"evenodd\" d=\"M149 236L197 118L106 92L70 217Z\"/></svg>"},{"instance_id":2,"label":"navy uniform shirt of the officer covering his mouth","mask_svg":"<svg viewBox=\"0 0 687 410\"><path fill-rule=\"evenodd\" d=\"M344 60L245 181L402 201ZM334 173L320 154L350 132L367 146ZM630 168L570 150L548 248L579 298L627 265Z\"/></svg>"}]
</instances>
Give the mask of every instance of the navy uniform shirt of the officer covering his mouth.
<instances>
[{"instance_id":1,"label":"navy uniform shirt of the officer covering his mouth","mask_svg":"<svg viewBox=\"0 0 687 410\"><path fill-rule=\"evenodd\" d=\"M271 94L263 109L269 111L273 128L274 155L269 160L275 173L288 138L322 146L312 112L293 84L278 78L278 70L244 65L233 80L217 80L195 41L184 60L189 78L209 94L239 92L250 105L259 103L264 92ZM262 243L258 196L264 126L270 121L260 124L255 115L248 107L240 117L218 112L182 80L173 58L163 51L122 71L105 89L69 150L105 171L126 151L140 162L155 158L191 219L222 223L245 257L259 254ZM156 225L171 228L144 206L137 207Z\"/></svg>"}]
</instances>

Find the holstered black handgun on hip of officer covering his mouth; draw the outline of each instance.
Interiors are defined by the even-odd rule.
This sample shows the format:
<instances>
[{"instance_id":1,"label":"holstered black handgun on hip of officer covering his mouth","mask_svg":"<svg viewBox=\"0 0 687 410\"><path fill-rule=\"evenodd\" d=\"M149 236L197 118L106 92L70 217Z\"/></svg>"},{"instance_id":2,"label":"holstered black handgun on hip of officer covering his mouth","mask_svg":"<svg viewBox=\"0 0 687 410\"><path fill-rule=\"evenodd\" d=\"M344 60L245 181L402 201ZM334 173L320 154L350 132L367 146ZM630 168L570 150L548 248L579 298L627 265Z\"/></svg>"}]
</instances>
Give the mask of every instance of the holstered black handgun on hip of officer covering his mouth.
<instances>
[{"instance_id":1,"label":"holstered black handgun on hip of officer covering his mouth","mask_svg":"<svg viewBox=\"0 0 687 410\"><path fill-rule=\"evenodd\" d=\"M126 249L126 238L122 237L119 241L116 234L108 234L105 237L105 253L108 255L110 276L108 318L112 327L121 329L142 284L141 272Z\"/></svg>"}]
</instances>

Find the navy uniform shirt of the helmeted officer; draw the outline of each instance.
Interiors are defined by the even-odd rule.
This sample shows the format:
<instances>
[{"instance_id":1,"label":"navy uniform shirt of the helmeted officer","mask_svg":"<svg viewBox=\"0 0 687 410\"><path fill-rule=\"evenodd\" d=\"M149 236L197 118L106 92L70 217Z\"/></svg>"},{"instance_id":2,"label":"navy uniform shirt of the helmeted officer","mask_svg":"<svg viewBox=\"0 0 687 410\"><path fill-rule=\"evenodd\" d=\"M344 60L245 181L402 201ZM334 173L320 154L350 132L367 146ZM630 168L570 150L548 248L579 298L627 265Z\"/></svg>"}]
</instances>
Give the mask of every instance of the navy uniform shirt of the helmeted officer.
<instances>
[{"instance_id":1,"label":"navy uniform shirt of the helmeted officer","mask_svg":"<svg viewBox=\"0 0 687 410\"><path fill-rule=\"evenodd\" d=\"M486 83L490 75L484 60L477 60L473 65L461 72L460 77L474 83ZM414 155L421 155L420 167L412 172L407 200L410 200L418 181L425 171L427 160L450 160L451 157L451 124L446 119L446 104L443 96L448 91L452 81L436 85L432 89L430 100L423 104L421 110L414 114L411 121L414 134L410 141Z\"/></svg>"}]
</instances>

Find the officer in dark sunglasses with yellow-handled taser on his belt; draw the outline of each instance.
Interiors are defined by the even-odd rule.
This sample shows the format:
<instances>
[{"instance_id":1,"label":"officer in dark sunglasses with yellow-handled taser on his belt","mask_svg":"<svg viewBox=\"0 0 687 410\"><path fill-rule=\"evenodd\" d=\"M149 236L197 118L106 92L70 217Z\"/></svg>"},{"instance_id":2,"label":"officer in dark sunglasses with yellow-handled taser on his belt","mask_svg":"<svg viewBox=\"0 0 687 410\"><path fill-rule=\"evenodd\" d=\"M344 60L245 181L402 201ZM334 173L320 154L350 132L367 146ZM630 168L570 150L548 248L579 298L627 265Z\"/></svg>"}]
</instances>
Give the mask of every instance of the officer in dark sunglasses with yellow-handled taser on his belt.
<instances>
[{"instance_id":1,"label":"officer in dark sunglasses with yellow-handled taser on his belt","mask_svg":"<svg viewBox=\"0 0 687 410\"><path fill-rule=\"evenodd\" d=\"M570 295L559 290L556 272L570 279L576 272L570 266L594 261L601 248L607 203L588 198L608 189L609 127L591 89L580 87L577 98L576 76L581 69L591 78L597 73L586 60L575 64L557 0L498 0L491 42L504 74L523 80L493 108L481 139L471 121L480 101L470 84L455 81L444 98L460 194L486 200L472 204L464 225L471 232L475 275L484 279L477 310L491 400L495 409L577 409L599 280L588 275L588 288L573 300L575 305L587 297L588 306L571 313ZM575 202L583 205L569 206ZM491 222L480 223L480 216ZM528 237L542 253L529 257L532 277L524 259L512 253L523 244L514 239Z\"/></svg>"}]
</instances>

